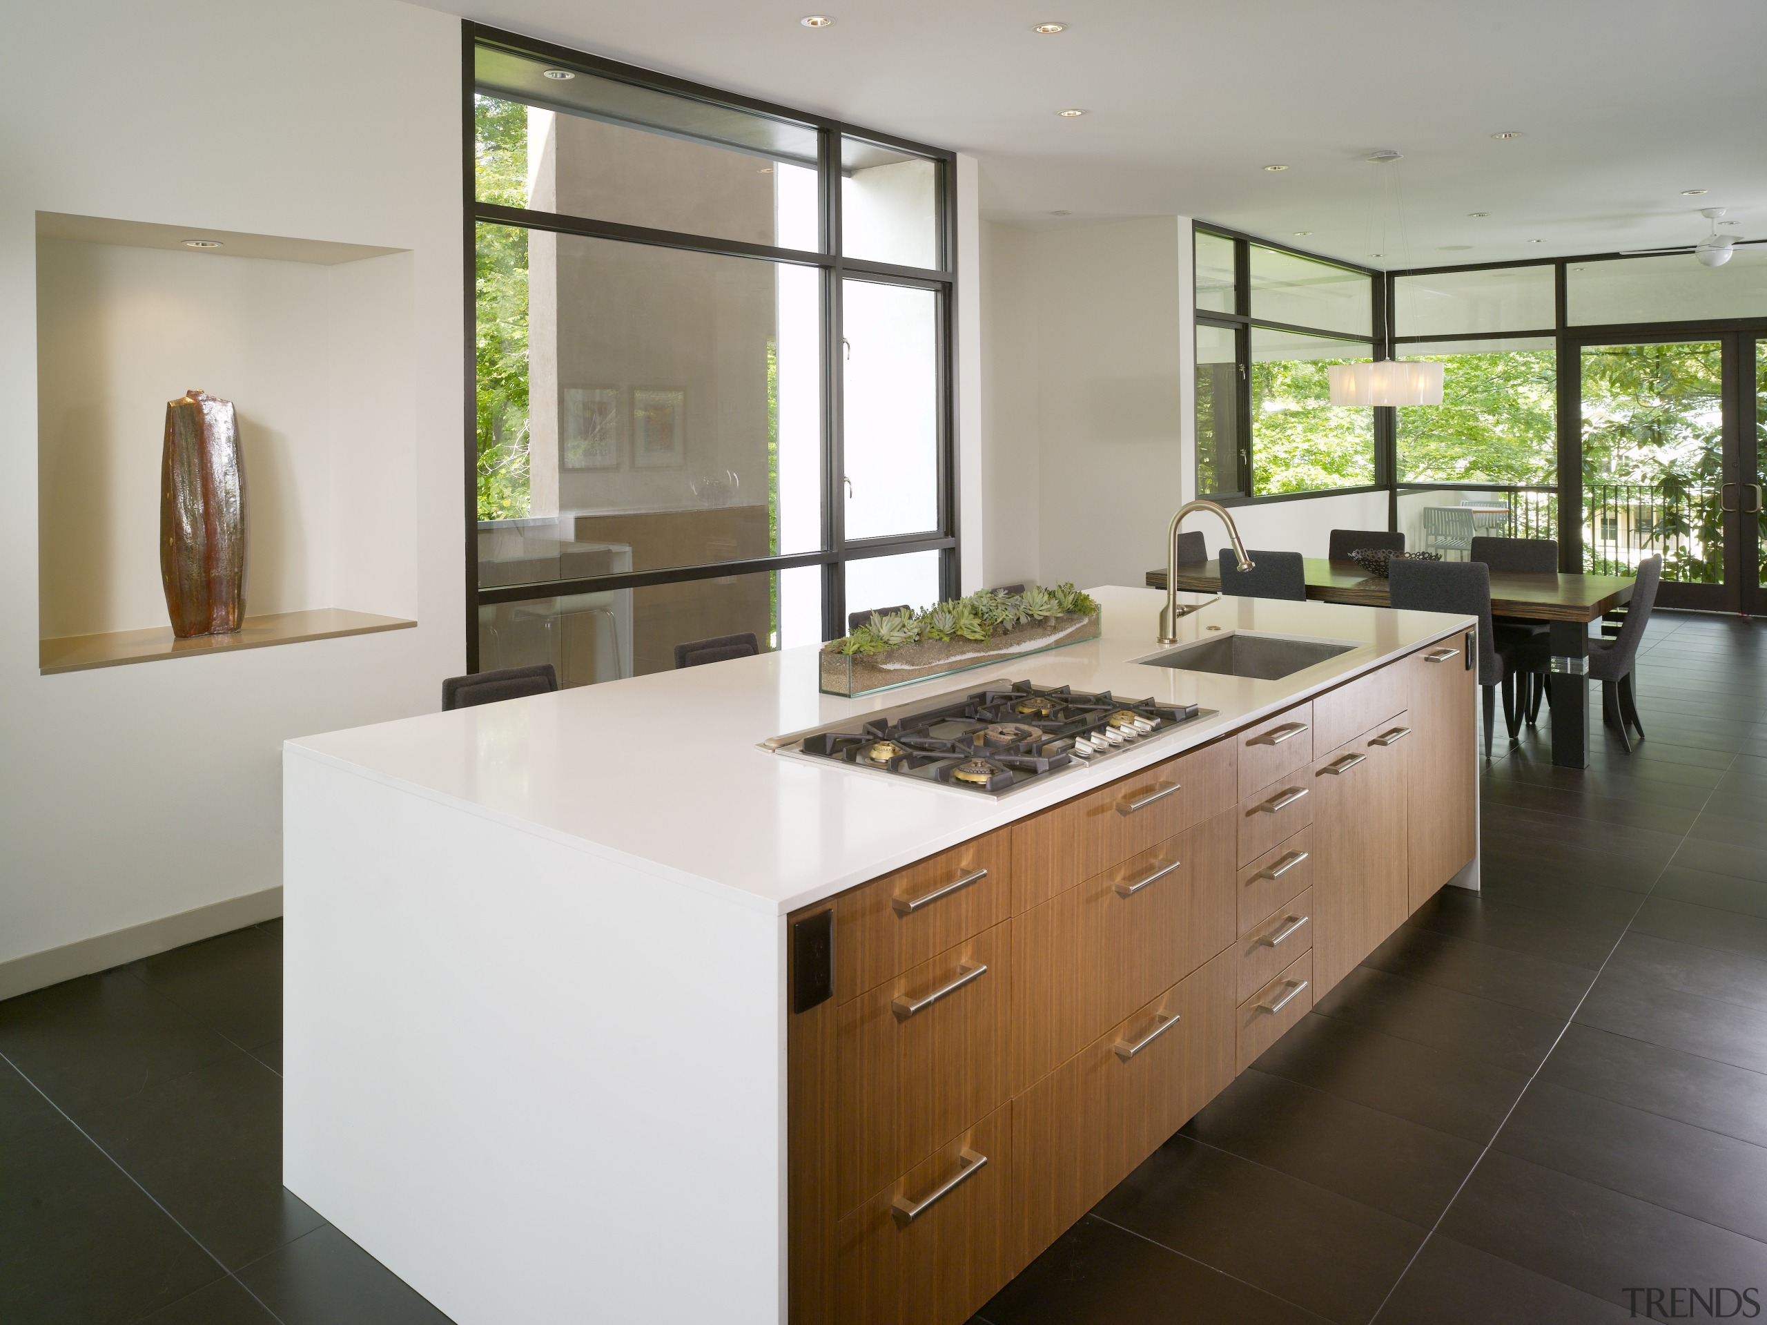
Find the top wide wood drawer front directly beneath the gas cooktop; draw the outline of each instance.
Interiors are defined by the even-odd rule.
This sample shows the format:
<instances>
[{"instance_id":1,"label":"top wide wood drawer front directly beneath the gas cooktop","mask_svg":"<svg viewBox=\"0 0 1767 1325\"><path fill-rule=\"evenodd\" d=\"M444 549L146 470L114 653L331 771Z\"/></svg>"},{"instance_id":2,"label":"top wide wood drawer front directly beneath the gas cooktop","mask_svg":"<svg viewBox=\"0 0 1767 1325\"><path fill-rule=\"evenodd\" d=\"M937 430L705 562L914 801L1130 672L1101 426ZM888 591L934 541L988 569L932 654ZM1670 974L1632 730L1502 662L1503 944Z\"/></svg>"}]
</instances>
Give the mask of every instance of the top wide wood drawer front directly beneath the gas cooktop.
<instances>
[{"instance_id":1,"label":"top wide wood drawer front directly beneath the gas cooktop","mask_svg":"<svg viewBox=\"0 0 1767 1325\"><path fill-rule=\"evenodd\" d=\"M1021 820L1012 830L1012 913L1228 809L1233 768L1232 740L1217 740Z\"/></svg>"}]
</instances>

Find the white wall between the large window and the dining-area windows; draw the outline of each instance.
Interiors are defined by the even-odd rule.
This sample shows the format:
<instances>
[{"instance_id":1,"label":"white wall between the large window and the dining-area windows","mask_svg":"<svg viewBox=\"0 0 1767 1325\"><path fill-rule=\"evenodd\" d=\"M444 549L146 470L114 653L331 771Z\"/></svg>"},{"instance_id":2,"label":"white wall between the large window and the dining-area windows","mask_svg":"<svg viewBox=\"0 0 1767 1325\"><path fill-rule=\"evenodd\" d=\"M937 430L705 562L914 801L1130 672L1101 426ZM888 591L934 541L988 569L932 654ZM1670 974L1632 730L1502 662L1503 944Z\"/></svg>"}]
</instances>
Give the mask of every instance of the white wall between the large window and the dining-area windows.
<instances>
[{"instance_id":1,"label":"white wall between the large window and the dining-area windows","mask_svg":"<svg viewBox=\"0 0 1767 1325\"><path fill-rule=\"evenodd\" d=\"M982 223L986 583L1141 585L1194 496L1189 217ZM1035 519L1028 516L1035 512ZM1323 556L1385 528L1387 495L1233 507L1248 548ZM1186 528L1226 546L1207 516Z\"/></svg>"}]
</instances>

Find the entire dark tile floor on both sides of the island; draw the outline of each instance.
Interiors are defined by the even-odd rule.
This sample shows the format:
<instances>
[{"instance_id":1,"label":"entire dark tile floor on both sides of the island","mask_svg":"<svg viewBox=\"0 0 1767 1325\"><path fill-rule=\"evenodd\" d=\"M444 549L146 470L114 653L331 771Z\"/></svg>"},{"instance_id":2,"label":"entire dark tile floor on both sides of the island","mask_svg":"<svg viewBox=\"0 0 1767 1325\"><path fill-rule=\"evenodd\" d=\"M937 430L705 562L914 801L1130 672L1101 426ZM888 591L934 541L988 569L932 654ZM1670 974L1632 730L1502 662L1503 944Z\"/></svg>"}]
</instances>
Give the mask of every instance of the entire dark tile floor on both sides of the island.
<instances>
[{"instance_id":1,"label":"entire dark tile floor on both sides of the island","mask_svg":"<svg viewBox=\"0 0 1767 1325\"><path fill-rule=\"evenodd\" d=\"M1553 768L1543 730L1490 765L1484 892L1428 905L977 1321L1767 1298L1767 627L1659 615L1638 708L1629 758L1597 728ZM0 1321L445 1325L283 1189L279 995L272 922L0 1003Z\"/></svg>"}]
</instances>

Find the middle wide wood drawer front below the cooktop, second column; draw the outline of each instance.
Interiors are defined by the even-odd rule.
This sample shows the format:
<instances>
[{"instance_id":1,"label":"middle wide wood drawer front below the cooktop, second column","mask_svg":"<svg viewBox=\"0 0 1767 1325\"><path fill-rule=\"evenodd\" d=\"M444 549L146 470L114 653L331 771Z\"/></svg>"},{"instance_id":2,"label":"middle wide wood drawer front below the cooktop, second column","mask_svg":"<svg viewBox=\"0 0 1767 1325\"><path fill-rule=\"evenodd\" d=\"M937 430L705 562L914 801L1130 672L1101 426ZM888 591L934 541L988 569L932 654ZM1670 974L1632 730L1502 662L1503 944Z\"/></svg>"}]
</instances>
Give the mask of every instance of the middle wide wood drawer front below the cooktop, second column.
<instances>
[{"instance_id":1,"label":"middle wide wood drawer front below the cooktop, second column","mask_svg":"<svg viewBox=\"0 0 1767 1325\"><path fill-rule=\"evenodd\" d=\"M1012 1094L1233 942L1233 814L1012 919Z\"/></svg>"}]
</instances>

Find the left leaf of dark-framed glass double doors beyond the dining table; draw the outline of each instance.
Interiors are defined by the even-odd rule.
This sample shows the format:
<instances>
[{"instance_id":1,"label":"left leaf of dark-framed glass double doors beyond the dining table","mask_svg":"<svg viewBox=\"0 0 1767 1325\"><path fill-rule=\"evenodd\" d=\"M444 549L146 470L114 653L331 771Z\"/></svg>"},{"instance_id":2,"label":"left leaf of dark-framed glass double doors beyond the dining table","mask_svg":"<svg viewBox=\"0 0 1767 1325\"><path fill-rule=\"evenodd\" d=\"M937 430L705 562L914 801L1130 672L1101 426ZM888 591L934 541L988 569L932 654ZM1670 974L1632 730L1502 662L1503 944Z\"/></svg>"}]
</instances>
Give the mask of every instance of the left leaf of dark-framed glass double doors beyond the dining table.
<instances>
[{"instance_id":1,"label":"left leaf of dark-framed glass double doors beyond the dining table","mask_svg":"<svg viewBox=\"0 0 1767 1325\"><path fill-rule=\"evenodd\" d=\"M1742 526L1758 507L1755 456L1740 454L1755 438L1725 389L1733 339L1578 346L1583 569L1631 574L1661 555L1665 608L1744 611L1760 581L1756 516Z\"/></svg>"}]
</instances>

